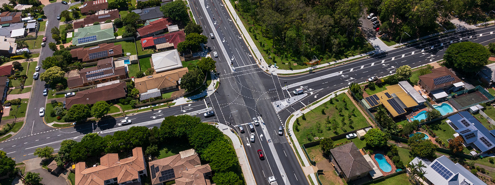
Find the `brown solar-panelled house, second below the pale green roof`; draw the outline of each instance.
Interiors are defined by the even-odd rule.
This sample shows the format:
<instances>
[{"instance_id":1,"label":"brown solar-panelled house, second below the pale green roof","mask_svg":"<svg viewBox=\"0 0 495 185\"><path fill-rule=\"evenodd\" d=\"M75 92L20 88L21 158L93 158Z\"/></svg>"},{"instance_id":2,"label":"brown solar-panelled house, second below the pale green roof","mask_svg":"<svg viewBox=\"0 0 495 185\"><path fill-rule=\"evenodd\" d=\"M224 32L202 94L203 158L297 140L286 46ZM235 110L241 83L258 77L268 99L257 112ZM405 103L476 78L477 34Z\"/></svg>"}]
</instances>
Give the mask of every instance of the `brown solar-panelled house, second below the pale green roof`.
<instances>
[{"instance_id":1,"label":"brown solar-panelled house, second below the pale green roof","mask_svg":"<svg viewBox=\"0 0 495 185\"><path fill-rule=\"evenodd\" d=\"M107 58L99 60L97 66L80 70L78 76L69 76L67 86L73 89L128 77L124 66L115 67L113 58Z\"/></svg>"}]
</instances>

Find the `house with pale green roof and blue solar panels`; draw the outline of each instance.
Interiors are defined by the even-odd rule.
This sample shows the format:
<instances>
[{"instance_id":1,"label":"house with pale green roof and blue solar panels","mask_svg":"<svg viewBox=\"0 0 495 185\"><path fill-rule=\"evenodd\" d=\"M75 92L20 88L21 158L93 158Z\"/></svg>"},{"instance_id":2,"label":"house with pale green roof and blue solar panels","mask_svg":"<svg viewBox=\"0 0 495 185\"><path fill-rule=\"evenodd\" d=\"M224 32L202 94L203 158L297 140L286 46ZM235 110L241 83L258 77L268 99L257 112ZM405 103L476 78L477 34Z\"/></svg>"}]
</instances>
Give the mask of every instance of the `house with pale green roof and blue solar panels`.
<instances>
[{"instance_id":1,"label":"house with pale green roof and blue solar panels","mask_svg":"<svg viewBox=\"0 0 495 185\"><path fill-rule=\"evenodd\" d=\"M114 39L113 31L113 23L78 28L74 30L72 44L80 45Z\"/></svg>"}]
</instances>

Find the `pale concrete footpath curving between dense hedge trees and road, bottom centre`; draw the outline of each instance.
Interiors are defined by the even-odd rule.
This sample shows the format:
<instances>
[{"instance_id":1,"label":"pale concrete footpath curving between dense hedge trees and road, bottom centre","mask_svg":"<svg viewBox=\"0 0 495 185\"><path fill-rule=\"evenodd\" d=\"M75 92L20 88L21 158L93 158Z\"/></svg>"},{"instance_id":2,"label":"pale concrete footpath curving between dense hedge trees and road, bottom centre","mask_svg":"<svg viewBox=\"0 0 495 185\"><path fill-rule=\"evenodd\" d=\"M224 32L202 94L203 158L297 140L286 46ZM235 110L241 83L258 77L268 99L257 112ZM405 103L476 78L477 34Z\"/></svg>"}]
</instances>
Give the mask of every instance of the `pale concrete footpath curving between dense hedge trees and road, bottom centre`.
<instances>
[{"instance_id":1,"label":"pale concrete footpath curving between dense hedge trees and road, bottom centre","mask_svg":"<svg viewBox=\"0 0 495 185\"><path fill-rule=\"evenodd\" d=\"M229 136L229 138L232 140L234 149L236 149L237 158L239 159L239 164L241 165L241 169L243 170L244 180L246 181L246 184L256 185L256 182L254 181L254 175L252 174L251 166L247 161L246 150L244 150L244 146L239 140L239 137L236 134L234 134L232 131L230 131L230 127L228 127L227 125L218 124L216 126L218 129L220 129L220 131L223 132L223 134Z\"/></svg>"}]
</instances>

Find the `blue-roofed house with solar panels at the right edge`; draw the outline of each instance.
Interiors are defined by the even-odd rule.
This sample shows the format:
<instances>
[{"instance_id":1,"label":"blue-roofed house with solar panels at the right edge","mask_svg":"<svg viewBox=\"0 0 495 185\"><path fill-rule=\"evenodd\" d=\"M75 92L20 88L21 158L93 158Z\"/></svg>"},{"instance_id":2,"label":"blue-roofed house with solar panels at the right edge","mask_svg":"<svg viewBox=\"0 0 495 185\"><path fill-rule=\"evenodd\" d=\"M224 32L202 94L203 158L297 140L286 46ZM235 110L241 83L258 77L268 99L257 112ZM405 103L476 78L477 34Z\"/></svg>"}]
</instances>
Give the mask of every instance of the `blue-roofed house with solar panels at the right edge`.
<instances>
[{"instance_id":1,"label":"blue-roofed house with solar panels at the right edge","mask_svg":"<svg viewBox=\"0 0 495 185\"><path fill-rule=\"evenodd\" d=\"M495 151L495 130L488 130L468 111L461 111L448 116L447 122L462 136L464 143L480 153Z\"/></svg>"}]
</instances>

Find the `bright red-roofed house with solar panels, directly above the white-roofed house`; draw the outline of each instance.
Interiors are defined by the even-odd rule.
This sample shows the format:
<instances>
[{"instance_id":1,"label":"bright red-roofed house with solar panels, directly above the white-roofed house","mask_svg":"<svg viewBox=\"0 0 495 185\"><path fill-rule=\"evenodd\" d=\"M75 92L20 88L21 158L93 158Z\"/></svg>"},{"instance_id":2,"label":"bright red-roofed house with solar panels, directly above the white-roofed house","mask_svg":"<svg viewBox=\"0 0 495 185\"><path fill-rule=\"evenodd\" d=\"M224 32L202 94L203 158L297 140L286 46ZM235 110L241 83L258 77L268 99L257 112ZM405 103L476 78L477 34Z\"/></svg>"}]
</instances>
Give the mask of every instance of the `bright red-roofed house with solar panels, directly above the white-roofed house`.
<instances>
[{"instance_id":1,"label":"bright red-roofed house with solar panels, directly above the white-roofed house","mask_svg":"<svg viewBox=\"0 0 495 185\"><path fill-rule=\"evenodd\" d=\"M143 49L177 49L177 45L184 40L186 40L186 34L184 31L179 31L159 36L141 38L141 46Z\"/></svg>"}]
</instances>

